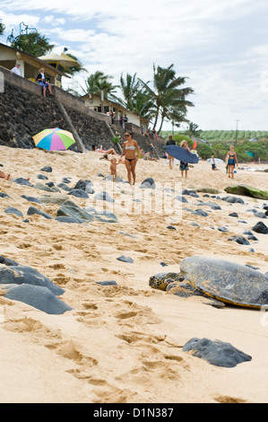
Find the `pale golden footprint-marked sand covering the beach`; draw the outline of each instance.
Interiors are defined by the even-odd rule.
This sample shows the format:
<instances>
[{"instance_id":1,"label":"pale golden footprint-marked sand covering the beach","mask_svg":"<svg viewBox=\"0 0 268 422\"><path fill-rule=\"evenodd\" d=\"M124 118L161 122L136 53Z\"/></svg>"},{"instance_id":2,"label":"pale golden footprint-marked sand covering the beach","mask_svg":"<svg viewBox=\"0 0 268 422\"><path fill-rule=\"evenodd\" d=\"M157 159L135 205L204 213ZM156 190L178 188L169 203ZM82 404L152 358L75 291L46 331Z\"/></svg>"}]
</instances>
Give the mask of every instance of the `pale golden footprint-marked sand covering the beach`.
<instances>
[{"instance_id":1,"label":"pale golden footprint-marked sand covering the beach","mask_svg":"<svg viewBox=\"0 0 268 422\"><path fill-rule=\"evenodd\" d=\"M90 179L95 186L98 173L109 172L108 162L99 161L98 153L52 154L4 146L0 153L1 170L11 172L13 178L30 177L33 184L48 181L37 179L45 165L53 168L52 173L43 172L49 181L59 183L70 177L71 186L81 179ZM219 189L221 198L227 196L224 188L236 183L268 190L265 172L238 170L235 180L229 180L224 164L219 168L212 171L210 164L198 163L182 180L178 166L170 171L163 159L159 163L140 160L137 186L152 177L162 187L182 181L186 189ZM125 165L120 164L118 172L126 180ZM200 193L200 198L186 197L189 203L182 204L181 219L155 211L118 214L117 209L117 224L63 224L39 215L28 216L27 224L4 209L16 207L26 218L30 206L39 206L21 195L39 198L46 192L8 180L0 183L0 190L11 197L0 198L0 255L49 277L65 289L61 299L73 307L71 312L49 315L0 296L2 403L267 402L268 327L261 323L261 312L229 306L216 309L204 297L182 298L154 290L148 283L152 275L178 271L182 259L198 255L268 271L267 235L255 233L259 241L251 241L250 246L228 241L230 235L242 234L260 221L246 210L262 208L264 201L243 197L245 205L231 206ZM119 187L116 202L132 198L129 185L114 185ZM80 207L92 204L92 198L70 199ZM186 208L208 209L199 207L198 199L216 202L221 210L210 210L207 217L192 215ZM54 216L57 208L42 207ZM230 217L231 212L239 217ZM167 229L169 224L177 230ZM220 233L221 225L229 232ZM134 263L118 261L121 255ZM161 261L168 267L162 267ZM118 286L96 284L104 280L115 280ZM193 337L229 342L252 360L231 369L210 365L182 351Z\"/></svg>"}]
</instances>

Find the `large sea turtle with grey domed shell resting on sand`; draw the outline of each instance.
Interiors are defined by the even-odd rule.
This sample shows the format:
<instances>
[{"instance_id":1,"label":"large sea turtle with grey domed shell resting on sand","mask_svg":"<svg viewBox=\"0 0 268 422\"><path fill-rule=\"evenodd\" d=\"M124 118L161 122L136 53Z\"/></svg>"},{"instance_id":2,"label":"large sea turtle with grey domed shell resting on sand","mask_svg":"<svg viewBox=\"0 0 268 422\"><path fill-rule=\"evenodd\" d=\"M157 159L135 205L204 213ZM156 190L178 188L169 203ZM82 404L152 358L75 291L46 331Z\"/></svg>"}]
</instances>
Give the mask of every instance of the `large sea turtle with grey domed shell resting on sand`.
<instances>
[{"instance_id":1,"label":"large sea turtle with grey domed shell resting on sand","mask_svg":"<svg viewBox=\"0 0 268 422\"><path fill-rule=\"evenodd\" d=\"M253 268L223 259L190 257L181 261L180 273L175 275L176 280L184 278L184 285L188 282L195 292L220 302L249 308L268 305L268 278ZM175 277L173 280L170 277L168 279L175 281ZM167 290L172 285L173 283L167 283L166 278ZM170 291L172 290L171 288ZM174 289L174 293L175 291Z\"/></svg>"}]
</instances>

